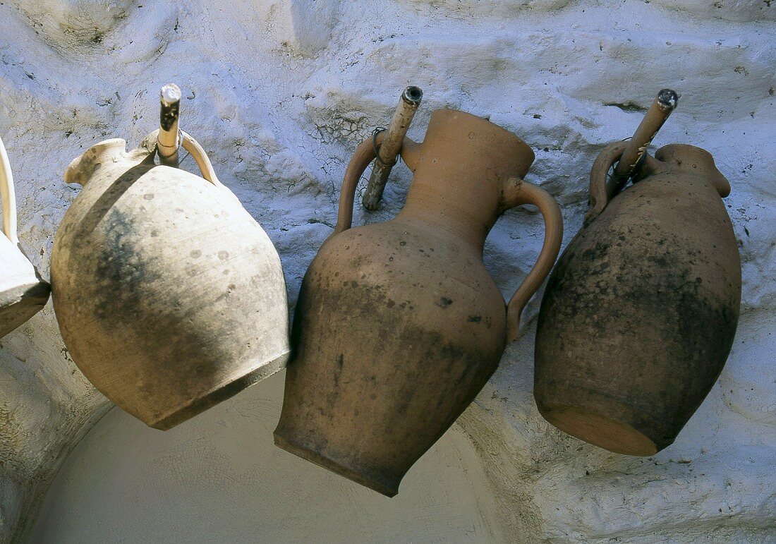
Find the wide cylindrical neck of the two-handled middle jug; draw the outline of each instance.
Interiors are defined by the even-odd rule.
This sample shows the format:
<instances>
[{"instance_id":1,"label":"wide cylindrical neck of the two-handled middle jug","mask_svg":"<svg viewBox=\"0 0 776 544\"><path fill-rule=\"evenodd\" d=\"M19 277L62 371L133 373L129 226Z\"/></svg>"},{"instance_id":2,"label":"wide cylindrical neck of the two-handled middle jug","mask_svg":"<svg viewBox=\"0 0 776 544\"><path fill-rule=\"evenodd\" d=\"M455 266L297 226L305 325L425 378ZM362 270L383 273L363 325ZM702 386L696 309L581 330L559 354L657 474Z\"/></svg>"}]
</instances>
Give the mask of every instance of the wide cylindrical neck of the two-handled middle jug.
<instances>
[{"instance_id":1,"label":"wide cylindrical neck of the two-handled middle jug","mask_svg":"<svg viewBox=\"0 0 776 544\"><path fill-rule=\"evenodd\" d=\"M508 130L469 113L437 110L413 161L399 217L444 230L482 255L505 209L505 184L523 178L533 159L531 148Z\"/></svg>"}]
</instances>

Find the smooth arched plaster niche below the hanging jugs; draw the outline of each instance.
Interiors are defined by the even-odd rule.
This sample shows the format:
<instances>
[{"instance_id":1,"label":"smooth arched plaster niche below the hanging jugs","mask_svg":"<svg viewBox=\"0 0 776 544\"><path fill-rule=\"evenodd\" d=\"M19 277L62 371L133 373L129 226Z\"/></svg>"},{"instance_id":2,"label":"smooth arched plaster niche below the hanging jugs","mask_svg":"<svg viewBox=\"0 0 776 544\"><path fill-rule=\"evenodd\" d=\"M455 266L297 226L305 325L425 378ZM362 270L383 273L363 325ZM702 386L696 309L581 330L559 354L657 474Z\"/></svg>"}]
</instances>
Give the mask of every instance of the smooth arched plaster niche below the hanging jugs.
<instances>
[{"instance_id":1,"label":"smooth arched plaster niche below the hanging jugs","mask_svg":"<svg viewBox=\"0 0 776 544\"><path fill-rule=\"evenodd\" d=\"M459 428L389 499L275 448L282 386L281 373L167 432L109 411L57 474L30 542L506 542Z\"/></svg>"}]
</instances>

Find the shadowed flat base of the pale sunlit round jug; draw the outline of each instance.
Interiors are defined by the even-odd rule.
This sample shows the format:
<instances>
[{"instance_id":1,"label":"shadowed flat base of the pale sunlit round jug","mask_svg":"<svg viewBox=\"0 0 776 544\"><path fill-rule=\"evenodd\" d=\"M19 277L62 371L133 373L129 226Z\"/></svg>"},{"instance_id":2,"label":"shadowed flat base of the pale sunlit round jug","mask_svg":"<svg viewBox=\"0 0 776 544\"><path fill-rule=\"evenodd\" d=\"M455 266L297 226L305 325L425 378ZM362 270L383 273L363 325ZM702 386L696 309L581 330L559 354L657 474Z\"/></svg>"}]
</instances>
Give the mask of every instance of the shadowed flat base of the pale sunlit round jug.
<instances>
[{"instance_id":1,"label":"shadowed flat base of the pale sunlit round jug","mask_svg":"<svg viewBox=\"0 0 776 544\"><path fill-rule=\"evenodd\" d=\"M242 390L262 381L262 379L272 376L275 372L279 372L286 368L286 361L288 361L289 355L290 352L286 352L279 357L275 357L275 359L272 359L271 361L262 362L260 366L251 370L251 372L238 376L227 383L222 383L220 386L216 386L202 397L192 400L172 413L165 414L164 418L155 421L144 421L151 428L159 429L160 431L168 431L175 427L175 425L181 424L184 421L201 414L208 408L213 407L230 397L234 397L234 395L240 393Z\"/></svg>"}]
</instances>

